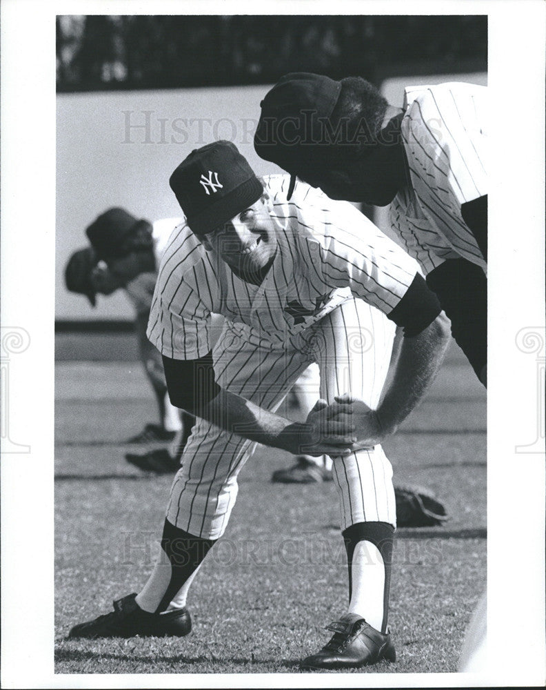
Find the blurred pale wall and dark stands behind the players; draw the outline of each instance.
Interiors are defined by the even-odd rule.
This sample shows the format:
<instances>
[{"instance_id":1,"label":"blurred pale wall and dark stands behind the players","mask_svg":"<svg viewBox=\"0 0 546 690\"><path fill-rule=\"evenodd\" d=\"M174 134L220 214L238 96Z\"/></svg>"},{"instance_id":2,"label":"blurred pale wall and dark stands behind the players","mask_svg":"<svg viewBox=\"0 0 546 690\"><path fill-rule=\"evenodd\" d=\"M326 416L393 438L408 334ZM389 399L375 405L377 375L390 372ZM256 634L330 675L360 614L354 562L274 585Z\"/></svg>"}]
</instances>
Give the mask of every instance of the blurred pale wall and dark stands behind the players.
<instances>
[{"instance_id":1,"label":"blurred pale wall and dark stands behind the players","mask_svg":"<svg viewBox=\"0 0 546 690\"><path fill-rule=\"evenodd\" d=\"M192 148L230 139L259 174L259 103L285 72L362 75L401 105L410 83L487 79L487 17L57 17L57 359L136 359L121 293L97 308L63 270L110 206L180 213L170 172ZM384 230L385 212L364 208ZM110 334L110 335L107 335Z\"/></svg>"}]
</instances>

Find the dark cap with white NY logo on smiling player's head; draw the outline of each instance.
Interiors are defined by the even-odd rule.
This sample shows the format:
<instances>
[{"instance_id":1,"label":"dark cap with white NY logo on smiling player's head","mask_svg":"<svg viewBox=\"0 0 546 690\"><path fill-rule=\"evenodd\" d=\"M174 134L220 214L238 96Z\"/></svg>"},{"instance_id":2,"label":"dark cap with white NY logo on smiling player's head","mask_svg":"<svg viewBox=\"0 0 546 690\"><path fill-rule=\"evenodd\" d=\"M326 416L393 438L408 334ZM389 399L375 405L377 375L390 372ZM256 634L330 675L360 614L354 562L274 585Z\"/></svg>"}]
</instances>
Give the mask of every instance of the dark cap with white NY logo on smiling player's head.
<instances>
[{"instance_id":1,"label":"dark cap with white NY logo on smiling player's head","mask_svg":"<svg viewBox=\"0 0 546 690\"><path fill-rule=\"evenodd\" d=\"M263 194L261 181L231 141L193 150L169 184L195 235L222 226Z\"/></svg>"}]
</instances>

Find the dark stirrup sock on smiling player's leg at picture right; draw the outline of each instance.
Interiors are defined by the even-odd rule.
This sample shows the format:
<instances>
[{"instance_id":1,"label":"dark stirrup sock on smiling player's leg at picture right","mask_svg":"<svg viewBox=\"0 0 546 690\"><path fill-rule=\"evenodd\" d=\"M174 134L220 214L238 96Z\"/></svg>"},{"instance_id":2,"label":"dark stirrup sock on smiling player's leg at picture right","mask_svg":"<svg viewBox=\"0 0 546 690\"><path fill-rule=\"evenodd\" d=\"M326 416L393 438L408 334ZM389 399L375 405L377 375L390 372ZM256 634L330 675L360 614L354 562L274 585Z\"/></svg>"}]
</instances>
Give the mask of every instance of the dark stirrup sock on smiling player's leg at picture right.
<instances>
[{"instance_id":1,"label":"dark stirrup sock on smiling player's leg at picture right","mask_svg":"<svg viewBox=\"0 0 546 690\"><path fill-rule=\"evenodd\" d=\"M343 531L345 549L347 550L347 569L349 570L349 600L352 595L352 558L358 542L372 542L383 558L385 566L385 587L383 589L383 622L381 632L387 630L389 610L390 576L392 567L392 546L394 527L388 522L356 522Z\"/></svg>"}]
</instances>

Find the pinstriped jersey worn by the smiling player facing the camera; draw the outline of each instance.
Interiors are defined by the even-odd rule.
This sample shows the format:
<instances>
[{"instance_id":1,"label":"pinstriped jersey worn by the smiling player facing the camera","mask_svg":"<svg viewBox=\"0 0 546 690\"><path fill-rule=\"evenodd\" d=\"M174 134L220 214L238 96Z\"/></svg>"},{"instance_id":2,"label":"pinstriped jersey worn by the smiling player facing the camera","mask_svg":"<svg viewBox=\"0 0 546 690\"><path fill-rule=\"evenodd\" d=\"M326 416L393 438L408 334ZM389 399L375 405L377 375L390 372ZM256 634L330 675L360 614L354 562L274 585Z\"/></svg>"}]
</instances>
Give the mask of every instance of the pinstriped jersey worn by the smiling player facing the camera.
<instances>
[{"instance_id":1,"label":"pinstriped jersey worn by the smiling player facing the camera","mask_svg":"<svg viewBox=\"0 0 546 690\"><path fill-rule=\"evenodd\" d=\"M148 337L172 359L210 351L210 315L260 348L295 346L299 333L353 296L389 314L418 266L351 204L287 175L265 178L277 231L274 262L260 286L239 279L181 225L163 255Z\"/></svg>"}]
</instances>

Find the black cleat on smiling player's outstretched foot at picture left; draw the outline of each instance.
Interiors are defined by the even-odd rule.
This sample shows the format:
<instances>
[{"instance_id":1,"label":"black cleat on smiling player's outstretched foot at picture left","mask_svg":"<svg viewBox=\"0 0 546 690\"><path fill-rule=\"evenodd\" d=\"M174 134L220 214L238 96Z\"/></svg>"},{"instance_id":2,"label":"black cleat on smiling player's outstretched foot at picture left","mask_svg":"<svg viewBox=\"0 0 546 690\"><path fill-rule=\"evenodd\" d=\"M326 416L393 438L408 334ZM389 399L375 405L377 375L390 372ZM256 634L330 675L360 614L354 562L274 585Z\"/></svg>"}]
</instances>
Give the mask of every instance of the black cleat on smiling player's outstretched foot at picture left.
<instances>
[{"instance_id":1,"label":"black cleat on smiling player's outstretched foot at picture left","mask_svg":"<svg viewBox=\"0 0 546 690\"><path fill-rule=\"evenodd\" d=\"M134 598L136 593L114 601L114 611L99 615L99 618L74 625L68 638L165 638L183 637L192 629L190 612L185 607L168 613L143 611Z\"/></svg>"}]
</instances>

